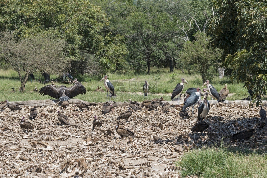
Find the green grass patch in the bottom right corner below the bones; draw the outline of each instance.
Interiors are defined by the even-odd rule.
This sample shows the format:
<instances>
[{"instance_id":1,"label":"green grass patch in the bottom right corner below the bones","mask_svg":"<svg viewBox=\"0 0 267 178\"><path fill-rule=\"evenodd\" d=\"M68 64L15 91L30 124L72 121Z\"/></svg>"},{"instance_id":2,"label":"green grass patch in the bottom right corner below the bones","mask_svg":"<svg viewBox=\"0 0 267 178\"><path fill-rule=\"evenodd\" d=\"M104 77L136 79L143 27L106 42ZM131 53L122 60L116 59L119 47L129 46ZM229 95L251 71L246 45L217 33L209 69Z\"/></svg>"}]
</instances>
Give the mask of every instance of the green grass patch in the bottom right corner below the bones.
<instances>
[{"instance_id":1,"label":"green grass patch in the bottom right corner below the bones","mask_svg":"<svg viewBox=\"0 0 267 178\"><path fill-rule=\"evenodd\" d=\"M182 177L267 177L267 155L242 149L197 149L183 155L176 165Z\"/></svg>"}]
</instances>

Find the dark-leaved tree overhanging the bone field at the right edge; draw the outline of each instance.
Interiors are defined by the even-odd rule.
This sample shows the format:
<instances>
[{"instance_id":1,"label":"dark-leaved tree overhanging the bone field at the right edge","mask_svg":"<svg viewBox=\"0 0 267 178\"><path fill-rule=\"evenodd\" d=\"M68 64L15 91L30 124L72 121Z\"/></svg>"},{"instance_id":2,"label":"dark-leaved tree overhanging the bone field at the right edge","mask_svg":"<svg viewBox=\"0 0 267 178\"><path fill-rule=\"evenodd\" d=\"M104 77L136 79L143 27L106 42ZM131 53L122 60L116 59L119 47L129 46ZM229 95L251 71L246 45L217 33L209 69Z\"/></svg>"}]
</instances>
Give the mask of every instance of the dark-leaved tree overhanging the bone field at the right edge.
<instances>
[{"instance_id":1,"label":"dark-leaved tree overhanging the bone field at the right edge","mask_svg":"<svg viewBox=\"0 0 267 178\"><path fill-rule=\"evenodd\" d=\"M232 80L245 82L255 96L266 93L267 1L215 2L217 14L210 20L210 46L223 50L224 65L232 68ZM259 105L260 97L255 97Z\"/></svg>"}]
</instances>

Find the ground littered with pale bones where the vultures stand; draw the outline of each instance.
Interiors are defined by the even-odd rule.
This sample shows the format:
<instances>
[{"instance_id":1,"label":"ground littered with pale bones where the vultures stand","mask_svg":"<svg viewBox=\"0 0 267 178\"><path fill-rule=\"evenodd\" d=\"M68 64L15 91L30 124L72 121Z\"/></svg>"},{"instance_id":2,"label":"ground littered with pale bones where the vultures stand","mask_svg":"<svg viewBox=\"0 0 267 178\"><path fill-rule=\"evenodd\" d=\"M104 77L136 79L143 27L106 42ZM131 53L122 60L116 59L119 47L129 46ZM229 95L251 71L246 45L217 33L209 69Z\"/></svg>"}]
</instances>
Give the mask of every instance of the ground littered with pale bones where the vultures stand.
<instances>
[{"instance_id":1,"label":"ground littered with pale bones where the vultures stand","mask_svg":"<svg viewBox=\"0 0 267 178\"><path fill-rule=\"evenodd\" d=\"M29 119L29 106L0 113L0 176L4 177L180 177L174 162L185 152L215 143L266 150L266 127L259 109L219 103L210 106L204 132L191 133L197 120L181 118L181 106L172 105L167 113L157 110L132 111L129 122L120 125L135 133L135 138L120 138L116 119L127 111L123 103L102 115L102 105L80 112L74 105L38 107L35 119ZM266 109L266 107L264 107ZM68 116L70 125L61 125L57 111ZM192 116L192 108L188 113ZM23 132L21 117L33 130ZM92 131L93 116L102 119L102 127ZM249 140L231 140L239 131L254 128Z\"/></svg>"}]
</instances>

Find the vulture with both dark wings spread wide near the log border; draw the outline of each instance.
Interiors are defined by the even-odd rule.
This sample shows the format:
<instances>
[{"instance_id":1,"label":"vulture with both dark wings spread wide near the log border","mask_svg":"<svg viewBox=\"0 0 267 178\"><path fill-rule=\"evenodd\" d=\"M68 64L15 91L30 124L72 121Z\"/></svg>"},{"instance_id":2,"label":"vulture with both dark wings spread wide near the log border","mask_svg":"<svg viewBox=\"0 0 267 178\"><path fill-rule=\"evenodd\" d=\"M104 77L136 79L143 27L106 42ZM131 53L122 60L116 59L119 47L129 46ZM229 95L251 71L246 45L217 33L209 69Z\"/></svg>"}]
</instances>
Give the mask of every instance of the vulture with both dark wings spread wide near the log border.
<instances>
[{"instance_id":1,"label":"vulture with both dark wings spread wide near the log border","mask_svg":"<svg viewBox=\"0 0 267 178\"><path fill-rule=\"evenodd\" d=\"M48 95L53 98L59 99L60 101L67 101L79 94L84 95L86 93L86 88L81 84L81 82L77 81L77 78L75 78L72 83L75 84L71 87L66 87L63 85L61 85L60 87L47 85L39 90L39 94L43 96Z\"/></svg>"}]
</instances>

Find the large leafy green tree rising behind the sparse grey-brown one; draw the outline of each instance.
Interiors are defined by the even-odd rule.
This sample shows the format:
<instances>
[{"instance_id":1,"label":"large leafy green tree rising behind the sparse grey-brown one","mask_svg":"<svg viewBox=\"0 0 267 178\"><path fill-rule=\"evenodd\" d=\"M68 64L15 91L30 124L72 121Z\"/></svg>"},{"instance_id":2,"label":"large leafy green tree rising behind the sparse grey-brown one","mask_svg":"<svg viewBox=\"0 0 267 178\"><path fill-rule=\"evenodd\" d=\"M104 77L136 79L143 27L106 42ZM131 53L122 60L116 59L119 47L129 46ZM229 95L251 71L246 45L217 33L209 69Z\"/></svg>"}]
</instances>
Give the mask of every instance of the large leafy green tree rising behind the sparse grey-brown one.
<instances>
[{"instance_id":1,"label":"large leafy green tree rising behind the sparse grey-brown one","mask_svg":"<svg viewBox=\"0 0 267 178\"><path fill-rule=\"evenodd\" d=\"M109 25L109 19L101 7L87 0L1 1L0 7L0 29L15 31L18 38L38 34L63 39L68 43L67 52L72 61L84 60L82 52L90 53L99 61L106 53L111 53L107 50L124 43L113 36L105 37L107 34L102 30ZM123 53L125 51L120 51ZM116 61L120 56L106 56L106 60Z\"/></svg>"}]
</instances>

